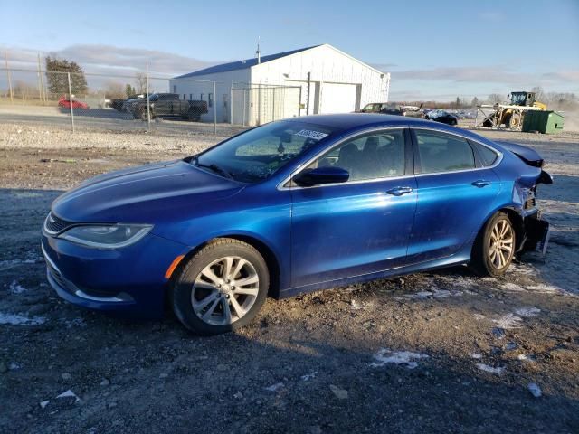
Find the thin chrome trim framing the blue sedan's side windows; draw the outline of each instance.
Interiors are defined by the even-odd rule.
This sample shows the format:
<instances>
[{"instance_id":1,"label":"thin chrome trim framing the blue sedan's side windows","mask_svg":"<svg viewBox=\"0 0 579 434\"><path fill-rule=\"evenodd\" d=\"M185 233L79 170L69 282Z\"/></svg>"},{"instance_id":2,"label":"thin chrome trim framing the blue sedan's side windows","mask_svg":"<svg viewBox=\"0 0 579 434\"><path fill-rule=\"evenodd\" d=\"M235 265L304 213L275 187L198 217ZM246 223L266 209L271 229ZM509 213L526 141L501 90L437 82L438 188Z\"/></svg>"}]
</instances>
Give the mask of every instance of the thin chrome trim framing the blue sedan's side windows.
<instances>
[{"instance_id":1,"label":"thin chrome trim framing the blue sedan's side windows","mask_svg":"<svg viewBox=\"0 0 579 434\"><path fill-rule=\"evenodd\" d=\"M402 175L402 176L386 176L383 178L370 178L370 179L360 179L360 180L356 180L356 181L346 181L346 183L337 183L337 184L319 184L319 185L310 185L308 187L300 187L299 185L294 185L294 186L284 186L285 184L287 184L289 182L289 180L296 176L299 175L299 173L302 170L305 170L306 167L308 167L308 165L310 165L312 162L314 162L316 159L318 159L320 156L326 154L327 152L329 152L330 150L334 149L334 147L340 146L342 145L344 142L346 142L347 140L351 140L352 137L356 137L356 136L363 136L367 133L373 133L375 131L384 131L387 129L426 129L426 130L430 130L430 131L434 131L434 132L438 132L438 133L442 133L442 134L448 134L451 136L457 136L460 138L464 138L467 141L472 141L475 142L481 146L486 146L488 147L491 151L493 151L494 153L497 154L497 159L495 160L495 162L492 165L487 165L484 167L475 167L474 169L461 169L461 170L450 170L450 171L446 171L446 172L432 172L429 174L413 174L413 175ZM470 145L469 145L470 146ZM476 152L474 149L472 150L473 152ZM308 161L306 161L306 163L304 163L303 165L299 165L296 170L294 172L291 173L291 175L286 176L285 178L283 178L283 181L280 182L280 184L277 185L276 189L279 191L283 191L283 190L303 190L303 189L310 189L310 188L319 188L319 187L334 187L334 186L339 186L339 185L352 185L352 184L371 184L371 183L378 183L378 182L384 182L384 181L388 181L388 180L396 180L396 179L407 179L407 178L412 178L412 177L419 177L419 176L432 176L432 175L446 175L446 174L460 174L463 172L477 172L479 170L486 170L486 169L494 169L495 167L497 167L500 162L503 160L503 153L500 152L498 149L495 149L492 146L489 146L485 143L480 142L479 140L472 138L472 137L467 137L465 135L462 135L460 133L454 133L454 132L448 132L448 131L444 131L438 128L433 128L433 127L409 127L409 126L396 126L396 127L390 127L390 126L385 126L385 127L372 127L369 129L365 129L363 131L357 131L356 133L348 136L348 137L344 137L342 140L340 140L339 142L337 142L336 145L332 146L330 149L328 150L324 150L324 151L320 151L316 156L313 156L312 158L308 159Z\"/></svg>"}]
</instances>

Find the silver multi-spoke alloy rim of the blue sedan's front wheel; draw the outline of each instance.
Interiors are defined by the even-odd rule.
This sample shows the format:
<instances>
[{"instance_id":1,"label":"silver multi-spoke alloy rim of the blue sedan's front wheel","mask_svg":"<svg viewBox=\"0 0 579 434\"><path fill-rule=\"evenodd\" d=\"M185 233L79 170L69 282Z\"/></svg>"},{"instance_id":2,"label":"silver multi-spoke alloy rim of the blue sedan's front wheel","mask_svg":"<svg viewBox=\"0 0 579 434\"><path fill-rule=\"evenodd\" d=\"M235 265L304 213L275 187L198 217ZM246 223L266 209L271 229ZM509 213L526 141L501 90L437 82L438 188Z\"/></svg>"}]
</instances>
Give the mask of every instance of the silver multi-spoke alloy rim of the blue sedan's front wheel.
<instances>
[{"instance_id":1,"label":"silver multi-spoke alloy rim of the blue sedan's front wheel","mask_svg":"<svg viewBox=\"0 0 579 434\"><path fill-rule=\"evenodd\" d=\"M252 263L239 256L214 260L195 278L191 304L195 315L210 325L230 325L252 308L260 278Z\"/></svg>"}]
</instances>

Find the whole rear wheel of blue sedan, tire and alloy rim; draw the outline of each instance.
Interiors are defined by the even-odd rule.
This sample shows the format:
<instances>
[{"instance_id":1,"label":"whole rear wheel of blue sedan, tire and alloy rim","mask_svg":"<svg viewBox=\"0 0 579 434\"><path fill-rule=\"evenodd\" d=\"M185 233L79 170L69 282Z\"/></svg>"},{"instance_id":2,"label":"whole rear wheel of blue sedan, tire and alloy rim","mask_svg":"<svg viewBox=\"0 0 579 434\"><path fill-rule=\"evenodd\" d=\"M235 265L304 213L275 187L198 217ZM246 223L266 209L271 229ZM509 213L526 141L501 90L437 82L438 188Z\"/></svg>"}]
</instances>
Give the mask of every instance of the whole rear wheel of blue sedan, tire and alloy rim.
<instances>
[{"instance_id":1,"label":"whole rear wheel of blue sedan, tire and alloy rim","mask_svg":"<svg viewBox=\"0 0 579 434\"><path fill-rule=\"evenodd\" d=\"M479 276L498 277L505 274L515 255L516 236L508 215L497 212L480 230L474 242L470 268Z\"/></svg>"}]
</instances>

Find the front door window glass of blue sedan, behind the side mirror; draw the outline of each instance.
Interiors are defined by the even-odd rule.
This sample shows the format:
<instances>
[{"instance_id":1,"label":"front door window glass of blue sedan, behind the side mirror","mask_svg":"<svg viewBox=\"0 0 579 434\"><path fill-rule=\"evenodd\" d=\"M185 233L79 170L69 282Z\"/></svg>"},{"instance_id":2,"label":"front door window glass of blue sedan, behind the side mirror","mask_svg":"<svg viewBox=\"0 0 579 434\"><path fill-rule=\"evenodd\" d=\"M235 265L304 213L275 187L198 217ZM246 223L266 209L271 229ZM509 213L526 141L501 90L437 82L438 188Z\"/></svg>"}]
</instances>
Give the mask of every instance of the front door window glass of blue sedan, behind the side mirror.
<instances>
[{"instance_id":1,"label":"front door window glass of blue sedan, behind the side mirror","mask_svg":"<svg viewBox=\"0 0 579 434\"><path fill-rule=\"evenodd\" d=\"M334 147L309 165L346 169L349 181L404 175L404 131L393 129L366 134Z\"/></svg>"}]
</instances>

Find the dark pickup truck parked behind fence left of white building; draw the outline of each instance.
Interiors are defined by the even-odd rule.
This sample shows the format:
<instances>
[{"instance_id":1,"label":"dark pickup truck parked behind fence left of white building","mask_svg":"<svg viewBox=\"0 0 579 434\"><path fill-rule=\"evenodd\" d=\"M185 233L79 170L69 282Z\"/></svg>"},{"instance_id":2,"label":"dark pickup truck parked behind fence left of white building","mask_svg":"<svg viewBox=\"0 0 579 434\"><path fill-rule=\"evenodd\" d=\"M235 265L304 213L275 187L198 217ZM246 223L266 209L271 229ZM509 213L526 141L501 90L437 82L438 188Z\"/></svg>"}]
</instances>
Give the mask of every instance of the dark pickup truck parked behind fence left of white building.
<instances>
[{"instance_id":1,"label":"dark pickup truck parked behind fence left of white building","mask_svg":"<svg viewBox=\"0 0 579 434\"><path fill-rule=\"evenodd\" d=\"M179 99L176 93L154 93L148 101L151 118L177 117L197 122L208 113L207 101ZM147 120L147 99L139 99L129 109L135 118Z\"/></svg>"}]
</instances>

